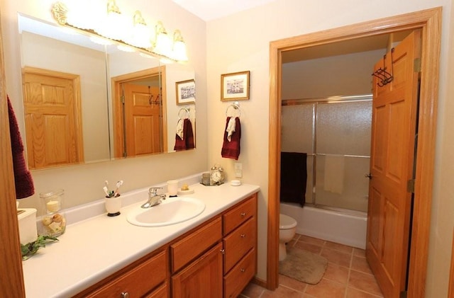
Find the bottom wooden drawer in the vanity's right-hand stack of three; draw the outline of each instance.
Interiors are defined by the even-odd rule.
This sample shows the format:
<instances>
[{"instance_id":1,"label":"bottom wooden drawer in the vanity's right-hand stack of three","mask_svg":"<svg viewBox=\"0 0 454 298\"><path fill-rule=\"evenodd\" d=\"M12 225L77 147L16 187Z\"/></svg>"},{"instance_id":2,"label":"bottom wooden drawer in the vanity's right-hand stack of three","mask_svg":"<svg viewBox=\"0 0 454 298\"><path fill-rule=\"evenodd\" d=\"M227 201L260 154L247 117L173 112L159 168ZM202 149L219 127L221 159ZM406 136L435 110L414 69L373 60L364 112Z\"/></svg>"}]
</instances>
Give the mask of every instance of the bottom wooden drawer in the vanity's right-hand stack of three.
<instances>
[{"instance_id":1,"label":"bottom wooden drawer in the vanity's right-hand stack of three","mask_svg":"<svg viewBox=\"0 0 454 298\"><path fill-rule=\"evenodd\" d=\"M224 298L238 297L255 275L255 272L257 271L256 264L257 256L255 248L253 248L227 275L223 277Z\"/></svg>"}]
</instances>

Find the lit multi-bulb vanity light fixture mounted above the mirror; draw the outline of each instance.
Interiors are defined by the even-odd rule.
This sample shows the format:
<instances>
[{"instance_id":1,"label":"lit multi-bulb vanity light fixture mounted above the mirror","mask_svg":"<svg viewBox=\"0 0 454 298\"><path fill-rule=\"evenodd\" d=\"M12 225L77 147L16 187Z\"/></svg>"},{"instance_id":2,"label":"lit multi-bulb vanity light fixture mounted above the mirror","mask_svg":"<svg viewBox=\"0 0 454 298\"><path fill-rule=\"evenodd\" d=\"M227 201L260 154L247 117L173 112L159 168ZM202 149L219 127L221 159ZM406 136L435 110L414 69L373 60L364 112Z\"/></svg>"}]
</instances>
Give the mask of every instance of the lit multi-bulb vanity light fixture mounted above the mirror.
<instances>
[{"instance_id":1,"label":"lit multi-bulb vanity light fixture mounted above the mirror","mask_svg":"<svg viewBox=\"0 0 454 298\"><path fill-rule=\"evenodd\" d=\"M96 4L88 5L91 2L58 1L52 5L52 15L60 25L134 47L139 52L167 62L187 62L186 45L179 30L175 30L172 40L161 21L157 22L153 32L140 11L135 11L133 17L128 18L121 13L115 0L107 0L106 4L95 1ZM90 9L87 10L87 7Z\"/></svg>"}]
</instances>

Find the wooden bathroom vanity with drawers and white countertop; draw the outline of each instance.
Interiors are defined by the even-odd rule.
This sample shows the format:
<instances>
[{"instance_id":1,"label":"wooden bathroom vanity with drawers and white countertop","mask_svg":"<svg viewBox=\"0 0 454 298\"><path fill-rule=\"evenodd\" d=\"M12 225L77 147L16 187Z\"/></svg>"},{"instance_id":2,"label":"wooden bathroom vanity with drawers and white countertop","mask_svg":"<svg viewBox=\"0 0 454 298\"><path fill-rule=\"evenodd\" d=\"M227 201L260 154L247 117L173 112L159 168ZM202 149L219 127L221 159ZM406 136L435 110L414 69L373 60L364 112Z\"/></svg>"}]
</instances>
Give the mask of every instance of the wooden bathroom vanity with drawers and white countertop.
<instances>
[{"instance_id":1,"label":"wooden bathroom vanity with drawers and white countertop","mask_svg":"<svg viewBox=\"0 0 454 298\"><path fill-rule=\"evenodd\" d=\"M191 188L188 196L206 207L186 222L130 224L126 215L146 201L147 188L123 194L123 205L133 203L118 217L68 225L60 241L23 262L27 297L237 297L257 272L259 188Z\"/></svg>"}]
</instances>

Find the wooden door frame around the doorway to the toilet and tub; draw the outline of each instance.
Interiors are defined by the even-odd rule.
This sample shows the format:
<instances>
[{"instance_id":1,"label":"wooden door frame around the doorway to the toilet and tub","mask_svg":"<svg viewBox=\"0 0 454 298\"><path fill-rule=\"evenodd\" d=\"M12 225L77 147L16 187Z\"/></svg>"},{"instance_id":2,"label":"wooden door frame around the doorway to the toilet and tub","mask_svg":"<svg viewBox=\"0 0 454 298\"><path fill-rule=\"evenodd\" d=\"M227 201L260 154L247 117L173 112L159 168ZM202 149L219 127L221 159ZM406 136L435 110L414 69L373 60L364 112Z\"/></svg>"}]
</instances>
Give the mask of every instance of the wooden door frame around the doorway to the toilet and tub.
<instances>
[{"instance_id":1,"label":"wooden door frame around the doorway to the toilet and tub","mask_svg":"<svg viewBox=\"0 0 454 298\"><path fill-rule=\"evenodd\" d=\"M414 214L411 229L408 297L423 297L426 287L435 160L438 65L441 42L441 7L381 18L317 33L270 42L270 126L268 156L267 288L279 285L279 188L281 148L282 54L315 45L354 40L400 30L422 30L419 137L416 155Z\"/></svg>"}]
</instances>

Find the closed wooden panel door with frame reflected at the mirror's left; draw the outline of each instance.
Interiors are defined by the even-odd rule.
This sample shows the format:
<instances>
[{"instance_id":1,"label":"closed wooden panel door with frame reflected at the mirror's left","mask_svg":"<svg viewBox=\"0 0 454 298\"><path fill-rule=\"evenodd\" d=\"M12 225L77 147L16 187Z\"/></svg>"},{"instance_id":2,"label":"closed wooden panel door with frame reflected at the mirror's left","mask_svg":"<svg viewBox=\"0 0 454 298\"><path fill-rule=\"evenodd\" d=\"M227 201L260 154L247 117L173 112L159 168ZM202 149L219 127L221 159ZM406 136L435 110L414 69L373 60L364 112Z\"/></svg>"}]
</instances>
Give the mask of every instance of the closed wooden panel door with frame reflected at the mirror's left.
<instances>
[{"instance_id":1,"label":"closed wooden panel door with frame reflected at the mirror's left","mask_svg":"<svg viewBox=\"0 0 454 298\"><path fill-rule=\"evenodd\" d=\"M84 161L79 76L45 69L23 71L29 168Z\"/></svg>"}]
</instances>

